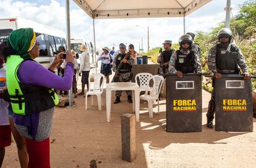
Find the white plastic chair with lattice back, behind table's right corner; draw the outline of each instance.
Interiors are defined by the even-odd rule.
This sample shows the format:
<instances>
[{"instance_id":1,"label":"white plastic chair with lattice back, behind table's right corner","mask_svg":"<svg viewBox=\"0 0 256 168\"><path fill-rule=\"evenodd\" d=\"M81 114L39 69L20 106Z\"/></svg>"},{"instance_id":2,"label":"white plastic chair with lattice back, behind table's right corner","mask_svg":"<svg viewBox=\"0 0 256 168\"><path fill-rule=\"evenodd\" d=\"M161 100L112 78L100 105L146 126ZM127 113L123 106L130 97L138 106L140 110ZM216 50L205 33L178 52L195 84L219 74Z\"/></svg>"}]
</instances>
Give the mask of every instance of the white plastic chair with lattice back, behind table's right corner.
<instances>
[{"instance_id":1,"label":"white plastic chair with lattice back, behind table's right corner","mask_svg":"<svg viewBox=\"0 0 256 168\"><path fill-rule=\"evenodd\" d=\"M151 89L149 89L149 82L148 79L150 79L153 76L151 73L138 73L135 76L135 83L137 83L140 86L140 92L145 92L147 89L150 92ZM137 78L139 78L139 83Z\"/></svg>"}]
</instances>

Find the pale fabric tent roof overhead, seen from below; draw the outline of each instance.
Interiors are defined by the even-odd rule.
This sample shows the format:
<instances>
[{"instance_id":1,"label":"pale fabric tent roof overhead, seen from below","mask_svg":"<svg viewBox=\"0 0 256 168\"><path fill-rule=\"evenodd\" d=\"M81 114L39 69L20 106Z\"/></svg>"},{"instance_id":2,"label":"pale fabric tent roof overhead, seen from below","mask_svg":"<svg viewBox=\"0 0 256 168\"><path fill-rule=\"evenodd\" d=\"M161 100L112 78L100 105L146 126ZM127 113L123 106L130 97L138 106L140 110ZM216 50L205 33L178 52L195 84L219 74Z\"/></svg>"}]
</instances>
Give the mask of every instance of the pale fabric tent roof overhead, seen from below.
<instances>
[{"instance_id":1,"label":"pale fabric tent roof overhead, seen from below","mask_svg":"<svg viewBox=\"0 0 256 168\"><path fill-rule=\"evenodd\" d=\"M184 17L211 0L73 0L90 17Z\"/></svg>"}]
</instances>

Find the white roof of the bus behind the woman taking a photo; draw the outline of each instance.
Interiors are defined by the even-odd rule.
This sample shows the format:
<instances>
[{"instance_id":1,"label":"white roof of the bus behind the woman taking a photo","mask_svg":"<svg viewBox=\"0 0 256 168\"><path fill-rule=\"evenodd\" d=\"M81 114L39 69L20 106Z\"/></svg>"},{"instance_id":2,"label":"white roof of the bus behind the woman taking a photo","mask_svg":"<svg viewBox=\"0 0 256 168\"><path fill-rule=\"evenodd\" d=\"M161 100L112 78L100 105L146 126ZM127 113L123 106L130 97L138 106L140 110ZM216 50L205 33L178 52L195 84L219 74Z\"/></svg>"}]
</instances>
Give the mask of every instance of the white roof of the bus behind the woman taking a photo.
<instances>
[{"instance_id":1,"label":"white roof of the bus behind the woman taking a photo","mask_svg":"<svg viewBox=\"0 0 256 168\"><path fill-rule=\"evenodd\" d=\"M66 39L66 34L62 30L58 30L56 28L52 28L50 26L42 25L40 23L33 22L32 20L27 20L25 18L20 18L20 17L0 17L0 22L1 20L16 20L16 28L33 28L33 30L36 33L45 33L49 34L51 36L58 36L61 38Z\"/></svg>"}]
</instances>

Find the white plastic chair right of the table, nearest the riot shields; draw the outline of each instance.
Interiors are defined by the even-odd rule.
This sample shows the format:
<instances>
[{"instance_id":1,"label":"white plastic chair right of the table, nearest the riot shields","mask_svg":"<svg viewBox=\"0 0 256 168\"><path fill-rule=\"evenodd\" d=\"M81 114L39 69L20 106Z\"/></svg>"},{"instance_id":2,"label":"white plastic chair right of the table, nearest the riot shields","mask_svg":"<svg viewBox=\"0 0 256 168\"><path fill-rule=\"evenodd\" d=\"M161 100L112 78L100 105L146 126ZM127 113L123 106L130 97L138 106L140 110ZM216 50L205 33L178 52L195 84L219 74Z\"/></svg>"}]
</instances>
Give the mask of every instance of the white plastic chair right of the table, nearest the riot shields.
<instances>
[{"instance_id":1,"label":"white plastic chair right of the table, nearest the riot shields","mask_svg":"<svg viewBox=\"0 0 256 168\"><path fill-rule=\"evenodd\" d=\"M148 87L147 87L147 90L146 90L145 94L140 95L140 99L148 101L149 117L153 118L153 102L155 100L157 100L157 102L158 102L158 112L159 112L159 98L158 97L159 97L160 90L161 90L161 87L162 87L163 82L164 82L164 78L163 78L163 76L154 75L150 79L148 79L148 84L149 84L151 79L153 80L153 87L151 89L150 94L148 95Z\"/></svg>"}]
</instances>

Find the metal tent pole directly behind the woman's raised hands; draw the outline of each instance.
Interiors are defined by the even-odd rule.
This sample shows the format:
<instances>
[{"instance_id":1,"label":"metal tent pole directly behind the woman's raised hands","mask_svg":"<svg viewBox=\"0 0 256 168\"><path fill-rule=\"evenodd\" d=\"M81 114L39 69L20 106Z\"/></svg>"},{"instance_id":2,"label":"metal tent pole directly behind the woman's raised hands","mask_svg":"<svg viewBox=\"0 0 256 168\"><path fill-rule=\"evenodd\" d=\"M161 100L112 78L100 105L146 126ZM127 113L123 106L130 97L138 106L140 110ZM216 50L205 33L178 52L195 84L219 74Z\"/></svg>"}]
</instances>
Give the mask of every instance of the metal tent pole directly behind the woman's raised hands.
<instances>
[{"instance_id":1,"label":"metal tent pole directly behind the woman's raised hands","mask_svg":"<svg viewBox=\"0 0 256 168\"><path fill-rule=\"evenodd\" d=\"M69 15L69 0L66 0L66 22L67 22L67 50L71 50L70 45L70 15ZM73 106L72 87L69 90L69 107Z\"/></svg>"}]
</instances>

